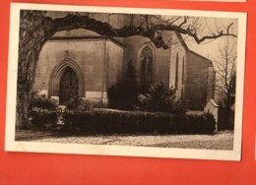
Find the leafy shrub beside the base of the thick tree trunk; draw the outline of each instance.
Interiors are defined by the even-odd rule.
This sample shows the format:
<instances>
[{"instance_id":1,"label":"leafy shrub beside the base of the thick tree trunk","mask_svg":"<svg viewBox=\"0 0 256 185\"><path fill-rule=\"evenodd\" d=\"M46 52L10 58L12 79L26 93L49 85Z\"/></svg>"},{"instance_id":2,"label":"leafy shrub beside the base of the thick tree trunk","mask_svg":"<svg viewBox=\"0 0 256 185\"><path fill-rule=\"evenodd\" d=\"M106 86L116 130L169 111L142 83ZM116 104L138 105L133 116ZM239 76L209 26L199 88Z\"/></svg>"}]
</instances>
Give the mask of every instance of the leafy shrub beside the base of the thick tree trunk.
<instances>
[{"instance_id":1,"label":"leafy shrub beside the base of the thick tree trunk","mask_svg":"<svg viewBox=\"0 0 256 185\"><path fill-rule=\"evenodd\" d=\"M46 127L57 122L57 103L45 94L32 94L29 116L34 126Z\"/></svg>"}]
</instances>

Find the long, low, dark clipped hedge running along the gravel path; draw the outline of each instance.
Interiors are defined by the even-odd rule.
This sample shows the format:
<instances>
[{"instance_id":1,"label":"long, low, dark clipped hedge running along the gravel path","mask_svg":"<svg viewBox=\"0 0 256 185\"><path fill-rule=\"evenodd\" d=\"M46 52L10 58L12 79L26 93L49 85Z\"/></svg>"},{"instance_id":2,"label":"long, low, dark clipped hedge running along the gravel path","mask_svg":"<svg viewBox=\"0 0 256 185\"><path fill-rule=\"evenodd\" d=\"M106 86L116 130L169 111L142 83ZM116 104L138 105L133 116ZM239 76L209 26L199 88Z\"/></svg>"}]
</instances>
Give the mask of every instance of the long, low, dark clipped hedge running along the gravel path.
<instances>
[{"instance_id":1,"label":"long, low, dark clipped hedge running along the gravel path","mask_svg":"<svg viewBox=\"0 0 256 185\"><path fill-rule=\"evenodd\" d=\"M63 122L68 131L85 134L211 134L216 125L212 115L103 109L65 110Z\"/></svg>"}]
</instances>

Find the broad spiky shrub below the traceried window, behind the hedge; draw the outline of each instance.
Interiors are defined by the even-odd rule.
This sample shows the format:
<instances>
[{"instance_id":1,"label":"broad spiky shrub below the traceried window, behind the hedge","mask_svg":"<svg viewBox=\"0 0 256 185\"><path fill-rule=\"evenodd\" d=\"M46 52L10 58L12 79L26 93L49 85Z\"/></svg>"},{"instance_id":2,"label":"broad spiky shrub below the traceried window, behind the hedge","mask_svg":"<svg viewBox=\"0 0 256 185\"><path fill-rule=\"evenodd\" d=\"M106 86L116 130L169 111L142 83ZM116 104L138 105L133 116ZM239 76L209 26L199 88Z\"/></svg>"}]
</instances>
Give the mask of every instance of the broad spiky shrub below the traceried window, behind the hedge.
<instances>
[{"instance_id":1,"label":"broad spiky shrub below the traceried window, behind the hedge","mask_svg":"<svg viewBox=\"0 0 256 185\"><path fill-rule=\"evenodd\" d=\"M187 102L177 99L176 90L169 88L163 81L151 86L148 93L138 96L138 109L151 112L169 112L184 114L187 110Z\"/></svg>"}]
</instances>

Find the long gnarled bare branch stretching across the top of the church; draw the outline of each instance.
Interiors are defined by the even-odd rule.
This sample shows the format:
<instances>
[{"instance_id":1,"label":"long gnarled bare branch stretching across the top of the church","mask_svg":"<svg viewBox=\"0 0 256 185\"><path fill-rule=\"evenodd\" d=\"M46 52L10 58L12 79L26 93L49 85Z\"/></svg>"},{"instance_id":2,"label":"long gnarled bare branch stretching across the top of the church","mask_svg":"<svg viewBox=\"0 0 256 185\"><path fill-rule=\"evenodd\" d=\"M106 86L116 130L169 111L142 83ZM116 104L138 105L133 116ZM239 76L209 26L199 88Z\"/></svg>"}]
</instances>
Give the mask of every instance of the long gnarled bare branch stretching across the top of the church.
<instances>
[{"instance_id":1,"label":"long gnarled bare branch stretching across the top of the church","mask_svg":"<svg viewBox=\"0 0 256 185\"><path fill-rule=\"evenodd\" d=\"M88 15L80 16L69 14L64 18L58 18L51 20L51 18L45 19L44 25L54 25L52 28L52 33L56 31L69 31L75 29L86 29L89 31L96 31L97 33L105 36L116 36L116 37L128 37L132 35L142 35L149 37L157 47L168 48L167 43L163 41L163 38L159 35L159 31L176 31L182 34L187 34L195 39L197 43L201 43L207 39L216 39L224 35L236 36L229 30L232 27L232 23L229 24L225 30L215 32L203 36L198 35L197 29L191 24L187 24L189 17L183 17L183 21L179 24L177 23L181 17L173 19L171 22L160 20L159 17L151 17L148 15L142 15L144 21L139 26L133 24L133 18L131 18L130 25L124 26L122 28L113 28L108 23L97 21L94 18L90 18ZM153 24L153 19L157 24ZM160 23L161 21L161 23ZM186 27L184 27L186 25ZM47 26L46 26L47 27ZM157 35L156 35L157 33Z\"/></svg>"}]
</instances>

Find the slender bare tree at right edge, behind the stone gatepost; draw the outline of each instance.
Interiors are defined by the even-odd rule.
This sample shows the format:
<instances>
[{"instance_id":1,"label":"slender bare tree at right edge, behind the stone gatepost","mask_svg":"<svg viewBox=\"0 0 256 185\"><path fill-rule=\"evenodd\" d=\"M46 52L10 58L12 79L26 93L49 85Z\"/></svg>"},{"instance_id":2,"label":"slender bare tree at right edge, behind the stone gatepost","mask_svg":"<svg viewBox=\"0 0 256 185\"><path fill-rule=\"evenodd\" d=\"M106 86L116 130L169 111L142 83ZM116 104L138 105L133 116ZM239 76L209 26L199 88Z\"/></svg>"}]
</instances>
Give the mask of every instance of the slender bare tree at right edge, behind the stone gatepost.
<instances>
[{"instance_id":1,"label":"slender bare tree at right edge, behind the stone gatepost","mask_svg":"<svg viewBox=\"0 0 256 185\"><path fill-rule=\"evenodd\" d=\"M216 91L220 102L222 127L233 126L232 105L235 98L236 84L236 43L226 39L225 44L219 48L219 60L216 66Z\"/></svg>"}]
</instances>

